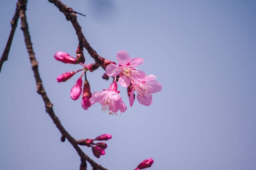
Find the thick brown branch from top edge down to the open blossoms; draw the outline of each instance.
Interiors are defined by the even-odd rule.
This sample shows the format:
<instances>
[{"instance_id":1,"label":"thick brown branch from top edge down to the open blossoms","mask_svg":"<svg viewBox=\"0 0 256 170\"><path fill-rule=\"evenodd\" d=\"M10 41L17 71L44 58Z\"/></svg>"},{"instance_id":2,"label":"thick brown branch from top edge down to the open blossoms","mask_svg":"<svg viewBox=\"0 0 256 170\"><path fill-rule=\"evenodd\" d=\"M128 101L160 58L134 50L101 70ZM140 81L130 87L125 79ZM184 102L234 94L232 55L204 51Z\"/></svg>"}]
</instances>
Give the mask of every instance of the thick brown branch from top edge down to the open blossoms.
<instances>
[{"instance_id":1,"label":"thick brown branch from top edge down to the open blossoms","mask_svg":"<svg viewBox=\"0 0 256 170\"><path fill-rule=\"evenodd\" d=\"M86 40L84 34L82 33L82 28L78 23L76 11L74 11L72 8L68 7L66 4L61 2L60 0L48 0L51 3L54 3L55 6L59 8L59 11L62 12L66 19L70 21L76 31L76 34L78 36L79 44L82 45L90 54L90 56L95 60L95 62L101 66L102 68L105 68L105 58L98 55L98 53L90 46L89 42Z\"/></svg>"}]
</instances>

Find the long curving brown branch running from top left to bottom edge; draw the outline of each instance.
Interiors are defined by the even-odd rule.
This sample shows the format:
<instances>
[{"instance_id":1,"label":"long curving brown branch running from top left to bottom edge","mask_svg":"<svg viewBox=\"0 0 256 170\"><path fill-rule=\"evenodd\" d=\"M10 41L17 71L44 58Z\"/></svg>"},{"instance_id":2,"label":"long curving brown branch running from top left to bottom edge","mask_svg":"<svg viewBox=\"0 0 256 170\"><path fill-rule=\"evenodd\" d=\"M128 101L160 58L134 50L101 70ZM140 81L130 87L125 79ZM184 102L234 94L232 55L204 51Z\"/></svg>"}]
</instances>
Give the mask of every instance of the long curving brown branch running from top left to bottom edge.
<instances>
[{"instance_id":1,"label":"long curving brown branch running from top left to bottom edge","mask_svg":"<svg viewBox=\"0 0 256 170\"><path fill-rule=\"evenodd\" d=\"M75 148L75 150L79 154L79 156L81 158L81 166L80 167L84 168L86 166L86 161L87 161L91 164L91 166L94 169L107 170L106 168L102 167L101 165L98 165L88 155L83 153L83 151L77 145L76 139L74 137L72 137L65 130L65 128L60 123L58 117L55 115L54 110L53 110L53 104L50 102L50 99L48 98L48 96L45 92L45 89L43 87L43 84L42 84L42 81L41 81L41 78L40 78L40 75L39 75L38 62L37 62L36 57L35 57L35 52L33 50L30 34L29 34L29 31L28 31L28 24L27 24L26 13L25 13L27 0L19 0L18 2L20 4L22 4L21 5L22 8L20 8L21 30L23 31L25 45L26 45L26 48L27 48L27 51L28 51L28 54L29 54L29 59L30 59L32 70L34 72L34 77L36 79L37 92L41 95L41 97L42 97L42 99L45 103L46 112L49 114L49 116L51 117L51 119L53 120L53 122L55 123L57 128L59 129L59 131L62 135L62 137L61 137L62 140L63 140L64 137L67 138L68 141L71 143L71 145Z\"/></svg>"}]
</instances>

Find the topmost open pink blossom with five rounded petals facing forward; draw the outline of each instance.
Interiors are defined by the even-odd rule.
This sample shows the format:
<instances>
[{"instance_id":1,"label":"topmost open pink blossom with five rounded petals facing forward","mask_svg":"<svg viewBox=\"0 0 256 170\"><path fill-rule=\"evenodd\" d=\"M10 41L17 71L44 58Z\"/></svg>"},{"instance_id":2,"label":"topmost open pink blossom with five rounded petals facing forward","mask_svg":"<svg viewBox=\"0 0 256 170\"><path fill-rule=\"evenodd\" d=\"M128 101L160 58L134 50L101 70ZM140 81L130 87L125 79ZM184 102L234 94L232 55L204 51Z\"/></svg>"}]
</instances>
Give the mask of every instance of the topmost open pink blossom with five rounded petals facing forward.
<instances>
[{"instance_id":1,"label":"topmost open pink blossom with five rounded petals facing forward","mask_svg":"<svg viewBox=\"0 0 256 170\"><path fill-rule=\"evenodd\" d=\"M136 66L141 65L144 60L139 57L132 58L129 54L122 50L117 53L118 66L115 64L109 64L106 67L106 74L111 77L119 75L118 83L123 87L128 87L131 83L131 78L138 75Z\"/></svg>"}]
</instances>

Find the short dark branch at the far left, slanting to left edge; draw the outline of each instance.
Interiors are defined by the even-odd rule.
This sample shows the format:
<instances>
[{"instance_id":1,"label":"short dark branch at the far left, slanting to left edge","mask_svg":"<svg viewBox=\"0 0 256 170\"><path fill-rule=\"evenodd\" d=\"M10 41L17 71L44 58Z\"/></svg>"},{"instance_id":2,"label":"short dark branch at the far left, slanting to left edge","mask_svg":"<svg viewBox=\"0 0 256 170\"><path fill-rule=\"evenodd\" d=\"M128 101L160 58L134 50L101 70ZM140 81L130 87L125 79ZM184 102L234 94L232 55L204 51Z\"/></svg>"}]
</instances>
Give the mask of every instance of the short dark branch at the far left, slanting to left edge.
<instances>
[{"instance_id":1,"label":"short dark branch at the far left, slanting to left edge","mask_svg":"<svg viewBox=\"0 0 256 170\"><path fill-rule=\"evenodd\" d=\"M8 41L6 43L6 46L4 48L4 51L3 51L1 59L0 59L0 72L1 72L1 68L2 68L3 62L8 60L8 55L9 55L9 51L10 51L10 48L11 48L11 45L12 45L13 36L14 36L15 30L17 28L17 22L18 22L19 17L20 17L20 15L19 15L20 7L21 7L21 4L18 1L17 4L16 4L16 10L15 10L14 16L13 16L13 18L11 20L12 29L11 29Z\"/></svg>"}]
</instances>

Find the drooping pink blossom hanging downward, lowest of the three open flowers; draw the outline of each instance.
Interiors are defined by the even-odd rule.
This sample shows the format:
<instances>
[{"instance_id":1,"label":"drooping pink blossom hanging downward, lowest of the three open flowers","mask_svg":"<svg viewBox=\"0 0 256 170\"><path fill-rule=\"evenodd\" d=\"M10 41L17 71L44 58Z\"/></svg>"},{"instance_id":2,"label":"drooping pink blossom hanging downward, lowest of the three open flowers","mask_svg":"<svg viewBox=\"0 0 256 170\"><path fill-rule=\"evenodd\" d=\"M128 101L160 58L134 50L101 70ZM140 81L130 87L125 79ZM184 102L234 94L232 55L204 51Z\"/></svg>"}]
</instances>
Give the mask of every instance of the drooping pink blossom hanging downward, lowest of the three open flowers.
<instances>
[{"instance_id":1,"label":"drooping pink blossom hanging downward, lowest of the three open flowers","mask_svg":"<svg viewBox=\"0 0 256 170\"><path fill-rule=\"evenodd\" d=\"M119 95L120 91L117 90L117 86L117 83L113 82L107 90L94 92L90 98L91 104L95 104L96 102L101 103L102 110L110 110L109 114L115 114L118 110L124 112L127 107Z\"/></svg>"}]
</instances>

